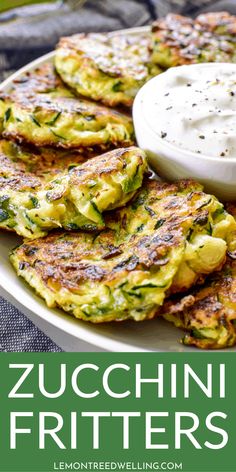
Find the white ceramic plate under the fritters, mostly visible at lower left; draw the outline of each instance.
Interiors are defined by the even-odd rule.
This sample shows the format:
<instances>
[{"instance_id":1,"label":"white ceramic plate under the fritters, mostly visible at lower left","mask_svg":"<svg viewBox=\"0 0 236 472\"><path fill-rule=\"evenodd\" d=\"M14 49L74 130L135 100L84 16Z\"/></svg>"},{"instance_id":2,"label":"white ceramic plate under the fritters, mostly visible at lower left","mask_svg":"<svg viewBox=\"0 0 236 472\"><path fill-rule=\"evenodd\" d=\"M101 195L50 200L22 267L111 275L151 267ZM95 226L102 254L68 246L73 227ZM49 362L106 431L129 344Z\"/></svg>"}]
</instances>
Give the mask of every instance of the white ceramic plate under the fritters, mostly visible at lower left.
<instances>
[{"instance_id":1,"label":"white ceramic plate under the fritters, mostly visible at lower left","mask_svg":"<svg viewBox=\"0 0 236 472\"><path fill-rule=\"evenodd\" d=\"M129 31L134 34L148 30L148 27L143 27ZM119 33L122 34L123 31ZM14 79L45 62L52 61L53 57L54 52L31 62L5 80L0 89L9 89ZM17 277L9 262L9 251L20 242L21 239L11 233L0 233L0 295L26 314L64 350L115 352L189 352L195 350L182 346L178 342L182 335L181 331L161 319L142 323L123 322L93 325L76 320L61 310L47 308L45 302L24 283L23 279Z\"/></svg>"}]
</instances>

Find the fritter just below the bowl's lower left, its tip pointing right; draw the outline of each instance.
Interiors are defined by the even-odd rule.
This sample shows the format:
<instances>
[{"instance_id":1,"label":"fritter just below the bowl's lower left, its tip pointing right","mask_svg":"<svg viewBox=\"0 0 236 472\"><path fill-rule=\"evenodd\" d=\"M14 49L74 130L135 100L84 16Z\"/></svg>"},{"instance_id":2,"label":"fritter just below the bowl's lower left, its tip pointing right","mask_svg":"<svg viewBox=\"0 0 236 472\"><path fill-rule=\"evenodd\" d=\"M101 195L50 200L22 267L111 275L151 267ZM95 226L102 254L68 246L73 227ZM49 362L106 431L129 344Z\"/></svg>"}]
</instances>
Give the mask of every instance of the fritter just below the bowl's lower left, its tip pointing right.
<instances>
[{"instance_id":1,"label":"fritter just below the bowl's lower left, its tip pointing right","mask_svg":"<svg viewBox=\"0 0 236 472\"><path fill-rule=\"evenodd\" d=\"M58 227L103 228L102 213L125 205L147 170L143 151L121 148L86 162L79 155L77 160L83 163L72 161L68 171L43 182L38 174L25 172L22 160L12 162L11 154L6 154L11 146L1 145L0 228L31 239Z\"/></svg>"}]
</instances>

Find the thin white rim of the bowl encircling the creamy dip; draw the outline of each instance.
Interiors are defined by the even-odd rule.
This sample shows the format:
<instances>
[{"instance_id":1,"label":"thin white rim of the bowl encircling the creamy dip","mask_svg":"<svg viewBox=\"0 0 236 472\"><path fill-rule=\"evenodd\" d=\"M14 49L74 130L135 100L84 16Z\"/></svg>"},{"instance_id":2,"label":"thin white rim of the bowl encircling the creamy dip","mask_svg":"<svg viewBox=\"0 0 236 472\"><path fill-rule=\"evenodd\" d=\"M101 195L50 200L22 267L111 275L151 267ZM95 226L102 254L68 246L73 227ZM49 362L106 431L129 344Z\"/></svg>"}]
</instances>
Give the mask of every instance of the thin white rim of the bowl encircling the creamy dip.
<instances>
[{"instance_id":1,"label":"thin white rim of the bowl encircling the creamy dip","mask_svg":"<svg viewBox=\"0 0 236 472\"><path fill-rule=\"evenodd\" d=\"M234 67L235 68L235 73L236 73L236 64L231 64L231 63L228 63L228 62L221 62L221 63L217 63L217 62L204 62L204 63L201 63L201 64L187 64L187 65L183 65L183 66L177 66L177 67L171 67L170 69L167 69L165 72L162 72L161 74L159 75L156 75L155 77L153 77L152 79L150 79L148 82L146 82L142 87L141 89L138 91L135 99L134 99L134 103L133 103L133 118L134 118L134 110L137 109L138 111L138 114L140 116L142 116L142 119L145 120L145 123L149 129L149 131L152 133L153 136L155 136L155 139L157 142L161 143L161 147L166 147L167 149L169 149L170 151L172 152L178 152L178 153L181 153L183 155L183 157L192 157L192 158L198 158L198 159L205 159L205 160L210 160L210 161L214 161L214 162L218 162L218 163L228 163L228 164L231 164L231 165L236 165L236 156L235 157L216 157L216 156L209 156L207 154L200 154L200 153L197 153L197 152L194 152L194 151L189 151L187 149L182 149L178 146L175 146L174 144L171 144L169 143L168 141L165 141L163 138L161 138L158 133L155 131L155 129L151 126L150 122L147 120L146 118L146 114L144 113L144 105L145 105L145 95L146 95L146 91L150 88L150 84L154 83L154 82L158 82L160 79L163 80L164 79L164 76L165 74L169 73L169 71L173 71L173 70L176 70L176 69L181 69L181 68L186 68L186 67L191 67L191 68L203 68L204 67L217 67L217 66L227 66L227 67ZM135 122L135 119L134 119L134 122Z\"/></svg>"}]
</instances>

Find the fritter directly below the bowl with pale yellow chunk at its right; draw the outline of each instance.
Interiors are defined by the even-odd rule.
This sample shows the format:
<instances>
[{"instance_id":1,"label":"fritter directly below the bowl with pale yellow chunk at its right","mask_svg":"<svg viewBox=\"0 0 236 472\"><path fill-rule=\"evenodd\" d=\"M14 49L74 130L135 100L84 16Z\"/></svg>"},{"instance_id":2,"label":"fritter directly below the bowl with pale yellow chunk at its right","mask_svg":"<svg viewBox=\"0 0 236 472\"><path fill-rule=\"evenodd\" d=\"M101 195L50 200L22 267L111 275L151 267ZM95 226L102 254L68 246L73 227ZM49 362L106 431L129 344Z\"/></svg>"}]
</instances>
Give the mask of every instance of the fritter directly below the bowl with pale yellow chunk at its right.
<instances>
[{"instance_id":1,"label":"fritter directly below the bowl with pale yellow chunk at its right","mask_svg":"<svg viewBox=\"0 0 236 472\"><path fill-rule=\"evenodd\" d=\"M185 241L184 256L171 285L171 292L187 290L225 261L226 243L234 249L232 239L236 223L223 205L203 192L202 185L182 180L176 183L150 181L137 194L132 205L118 213L115 228L132 234L135 228L153 231L181 227ZM113 227L112 221L106 223ZM213 268L214 267L214 268Z\"/></svg>"}]
</instances>

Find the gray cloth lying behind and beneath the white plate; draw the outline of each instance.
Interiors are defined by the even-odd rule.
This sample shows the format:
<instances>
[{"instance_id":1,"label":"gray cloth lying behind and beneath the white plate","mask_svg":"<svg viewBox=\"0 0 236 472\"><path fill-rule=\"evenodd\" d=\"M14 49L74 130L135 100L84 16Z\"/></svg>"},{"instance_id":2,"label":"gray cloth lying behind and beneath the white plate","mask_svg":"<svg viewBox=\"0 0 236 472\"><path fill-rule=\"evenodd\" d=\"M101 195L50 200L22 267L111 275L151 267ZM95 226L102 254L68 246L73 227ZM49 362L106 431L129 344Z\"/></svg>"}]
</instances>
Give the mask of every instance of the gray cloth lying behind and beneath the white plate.
<instances>
[{"instance_id":1,"label":"gray cloth lying behind and beneath the white plate","mask_svg":"<svg viewBox=\"0 0 236 472\"><path fill-rule=\"evenodd\" d=\"M45 8L45 7L44 7ZM150 23L169 11L196 15L199 11L228 10L236 14L236 1L212 0L88 0L82 9L67 7L32 21L11 22L12 12L0 16L0 80L36 57L52 50L62 35L81 31L109 31ZM25 10L27 13L27 8ZM17 12L16 12L17 14ZM8 16L7 16L8 15ZM45 334L16 308L0 298L0 351L59 352Z\"/></svg>"}]
</instances>

